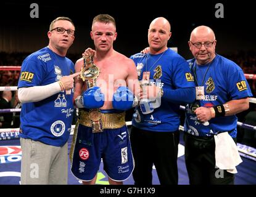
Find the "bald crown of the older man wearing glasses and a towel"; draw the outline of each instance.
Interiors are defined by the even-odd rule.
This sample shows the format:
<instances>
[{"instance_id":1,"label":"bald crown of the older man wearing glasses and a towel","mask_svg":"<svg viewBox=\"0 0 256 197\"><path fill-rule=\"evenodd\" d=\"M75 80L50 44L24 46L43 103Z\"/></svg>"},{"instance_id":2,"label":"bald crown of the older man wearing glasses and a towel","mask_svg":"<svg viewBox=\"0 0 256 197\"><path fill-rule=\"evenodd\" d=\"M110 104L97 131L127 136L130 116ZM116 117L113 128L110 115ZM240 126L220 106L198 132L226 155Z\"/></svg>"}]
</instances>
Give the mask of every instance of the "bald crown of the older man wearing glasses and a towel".
<instances>
[{"instance_id":1,"label":"bald crown of the older man wearing glasses and a towel","mask_svg":"<svg viewBox=\"0 0 256 197\"><path fill-rule=\"evenodd\" d=\"M197 26L191 32L190 41L196 41L197 39L209 39L211 41L215 40L215 34L209 26Z\"/></svg>"}]
</instances>

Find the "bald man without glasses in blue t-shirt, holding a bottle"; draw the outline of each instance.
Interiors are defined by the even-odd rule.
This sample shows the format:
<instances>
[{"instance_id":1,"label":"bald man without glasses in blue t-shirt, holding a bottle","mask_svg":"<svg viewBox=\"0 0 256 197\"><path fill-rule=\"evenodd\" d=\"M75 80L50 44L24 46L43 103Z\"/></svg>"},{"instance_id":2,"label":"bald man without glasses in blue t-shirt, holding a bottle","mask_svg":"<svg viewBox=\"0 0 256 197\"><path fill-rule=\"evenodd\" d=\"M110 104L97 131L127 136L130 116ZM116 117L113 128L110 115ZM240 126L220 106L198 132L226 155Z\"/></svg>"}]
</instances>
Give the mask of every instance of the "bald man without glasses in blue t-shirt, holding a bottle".
<instances>
[{"instance_id":1,"label":"bald man without glasses in blue t-shirt, holding a bottle","mask_svg":"<svg viewBox=\"0 0 256 197\"><path fill-rule=\"evenodd\" d=\"M170 30L168 20L155 18L148 31L149 53L131 56L142 87L130 136L133 179L139 185L152 185L153 164L160 184L178 184L179 109L194 102L195 85L186 60L167 48Z\"/></svg>"}]
</instances>

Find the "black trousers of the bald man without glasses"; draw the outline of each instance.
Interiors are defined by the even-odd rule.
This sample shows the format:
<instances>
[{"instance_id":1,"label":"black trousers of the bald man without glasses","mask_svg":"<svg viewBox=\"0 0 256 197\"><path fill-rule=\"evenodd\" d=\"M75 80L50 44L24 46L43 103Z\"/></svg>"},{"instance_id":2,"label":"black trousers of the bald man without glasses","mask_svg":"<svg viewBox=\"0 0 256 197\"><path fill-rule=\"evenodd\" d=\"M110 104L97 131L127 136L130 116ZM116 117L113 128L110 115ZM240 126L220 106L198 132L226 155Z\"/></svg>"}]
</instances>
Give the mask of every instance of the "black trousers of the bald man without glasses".
<instances>
[{"instance_id":1,"label":"black trousers of the bald man without glasses","mask_svg":"<svg viewBox=\"0 0 256 197\"><path fill-rule=\"evenodd\" d=\"M130 140L135 162L135 185L152 185L153 164L161 185L178 184L179 131L154 132L131 127Z\"/></svg>"}]
</instances>

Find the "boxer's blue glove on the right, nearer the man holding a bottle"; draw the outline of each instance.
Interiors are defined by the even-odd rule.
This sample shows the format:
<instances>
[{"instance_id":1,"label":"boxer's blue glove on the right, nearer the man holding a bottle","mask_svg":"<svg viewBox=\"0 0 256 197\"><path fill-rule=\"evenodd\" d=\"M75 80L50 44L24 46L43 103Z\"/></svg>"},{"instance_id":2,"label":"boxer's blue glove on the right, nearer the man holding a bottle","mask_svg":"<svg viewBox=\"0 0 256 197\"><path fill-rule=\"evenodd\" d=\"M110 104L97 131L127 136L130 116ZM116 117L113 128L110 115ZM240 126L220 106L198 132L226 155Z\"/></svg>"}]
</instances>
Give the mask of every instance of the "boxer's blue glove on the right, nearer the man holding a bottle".
<instances>
[{"instance_id":1,"label":"boxer's blue glove on the right, nearer the man holding a bottle","mask_svg":"<svg viewBox=\"0 0 256 197\"><path fill-rule=\"evenodd\" d=\"M126 86L120 86L113 95L112 105L116 110L129 110L133 107L134 95Z\"/></svg>"}]
</instances>

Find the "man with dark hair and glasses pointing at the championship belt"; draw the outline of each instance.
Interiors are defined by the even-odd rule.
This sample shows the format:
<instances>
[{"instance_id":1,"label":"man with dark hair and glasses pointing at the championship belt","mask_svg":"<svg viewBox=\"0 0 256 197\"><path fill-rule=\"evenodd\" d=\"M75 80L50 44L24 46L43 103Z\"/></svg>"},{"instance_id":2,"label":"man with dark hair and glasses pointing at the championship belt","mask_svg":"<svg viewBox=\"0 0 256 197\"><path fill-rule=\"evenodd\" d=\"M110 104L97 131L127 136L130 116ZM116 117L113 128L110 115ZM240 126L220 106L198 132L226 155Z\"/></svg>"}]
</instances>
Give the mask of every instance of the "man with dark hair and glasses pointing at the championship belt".
<instances>
[{"instance_id":1,"label":"man with dark hair and glasses pointing at the championship belt","mask_svg":"<svg viewBox=\"0 0 256 197\"><path fill-rule=\"evenodd\" d=\"M49 46L22 63L19 79L22 184L67 184L67 140L73 118L74 64L65 57L75 38L67 17L52 21Z\"/></svg>"}]
</instances>

